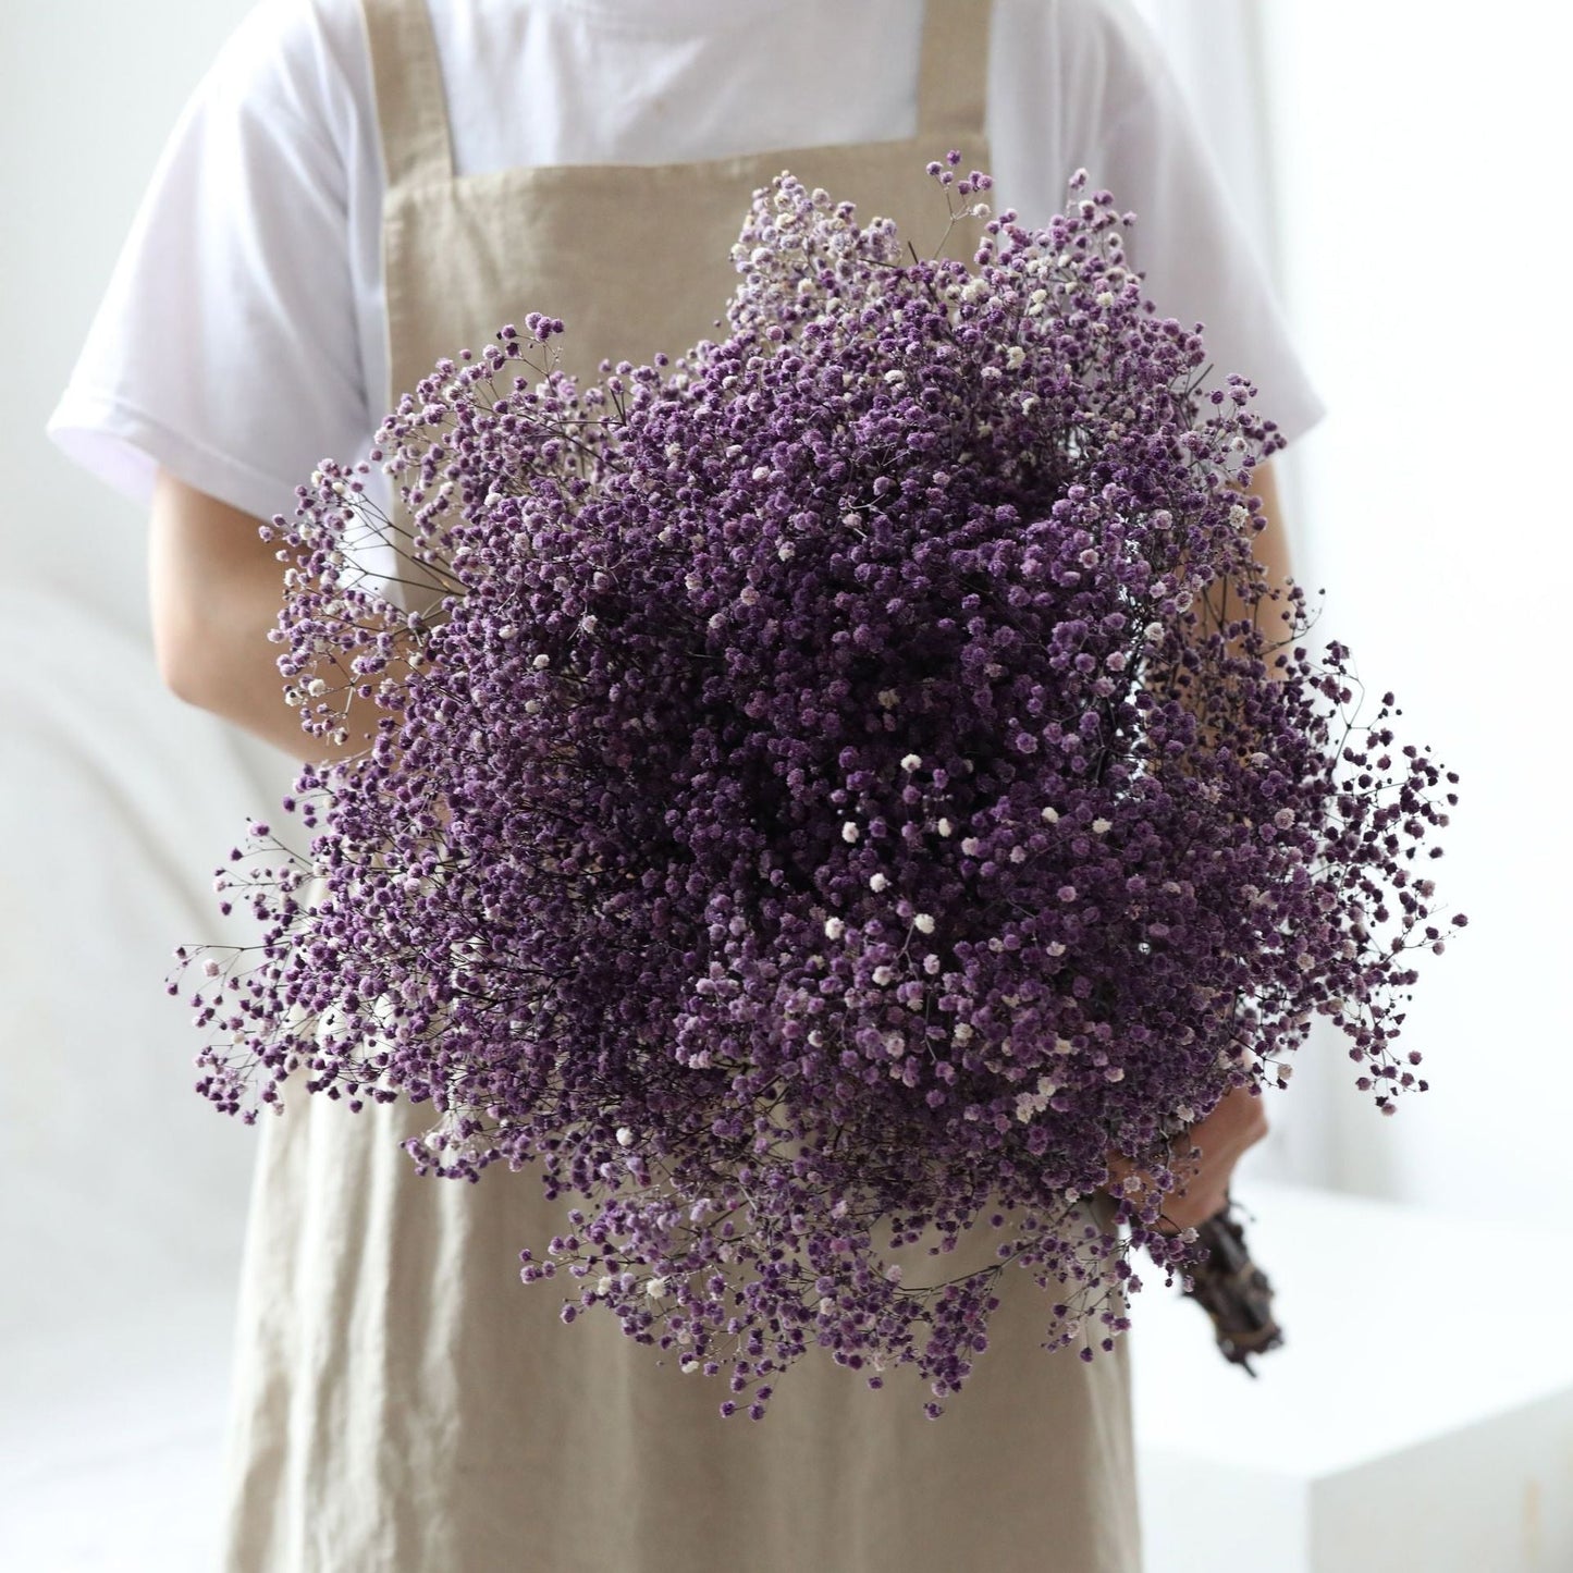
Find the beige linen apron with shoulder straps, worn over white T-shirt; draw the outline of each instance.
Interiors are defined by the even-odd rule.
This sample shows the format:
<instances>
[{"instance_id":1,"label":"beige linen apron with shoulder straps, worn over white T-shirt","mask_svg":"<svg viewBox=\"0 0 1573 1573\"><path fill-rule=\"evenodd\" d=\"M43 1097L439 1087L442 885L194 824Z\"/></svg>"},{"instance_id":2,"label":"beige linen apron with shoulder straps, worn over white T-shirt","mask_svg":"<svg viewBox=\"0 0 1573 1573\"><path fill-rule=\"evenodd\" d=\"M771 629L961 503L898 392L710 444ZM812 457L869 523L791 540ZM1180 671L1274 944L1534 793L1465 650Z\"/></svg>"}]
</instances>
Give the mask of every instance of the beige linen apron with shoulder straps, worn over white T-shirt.
<instances>
[{"instance_id":1,"label":"beige linen apron with shoulder straps, worn over white T-shirt","mask_svg":"<svg viewBox=\"0 0 1573 1573\"><path fill-rule=\"evenodd\" d=\"M930 0L909 142L466 178L425 5L365 14L393 393L530 310L568 322L582 374L681 352L714 332L749 197L782 168L933 250L925 162L961 146L986 167L986 0ZM263 1122L230 1573L1139 1568L1126 1339L1092 1364L1044 1353L1027 1274L1007 1276L989 1351L939 1420L911 1372L871 1392L818 1351L763 1422L722 1420L722 1381L658 1365L609 1315L563 1326L557 1288L521 1285L518 1252L558 1232L557 1206L533 1173L417 1178L400 1140L423 1125L304 1092Z\"/></svg>"}]
</instances>

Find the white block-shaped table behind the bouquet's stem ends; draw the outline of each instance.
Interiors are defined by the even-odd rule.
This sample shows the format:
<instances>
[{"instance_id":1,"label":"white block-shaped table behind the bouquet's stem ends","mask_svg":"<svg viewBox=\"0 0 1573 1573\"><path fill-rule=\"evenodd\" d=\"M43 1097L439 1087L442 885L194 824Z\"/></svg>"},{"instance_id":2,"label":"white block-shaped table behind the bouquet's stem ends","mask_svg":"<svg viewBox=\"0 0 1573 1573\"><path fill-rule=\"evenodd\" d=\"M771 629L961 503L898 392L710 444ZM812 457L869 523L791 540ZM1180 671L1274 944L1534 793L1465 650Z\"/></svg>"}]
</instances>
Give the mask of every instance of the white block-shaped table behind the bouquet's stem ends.
<instances>
[{"instance_id":1,"label":"white block-shaped table behind the bouquet's stem ends","mask_svg":"<svg viewBox=\"0 0 1573 1573\"><path fill-rule=\"evenodd\" d=\"M1573 1232L1262 1180L1235 1194L1285 1343L1252 1381L1199 1306L1144 1276L1147 1573L1573 1568Z\"/></svg>"}]
</instances>

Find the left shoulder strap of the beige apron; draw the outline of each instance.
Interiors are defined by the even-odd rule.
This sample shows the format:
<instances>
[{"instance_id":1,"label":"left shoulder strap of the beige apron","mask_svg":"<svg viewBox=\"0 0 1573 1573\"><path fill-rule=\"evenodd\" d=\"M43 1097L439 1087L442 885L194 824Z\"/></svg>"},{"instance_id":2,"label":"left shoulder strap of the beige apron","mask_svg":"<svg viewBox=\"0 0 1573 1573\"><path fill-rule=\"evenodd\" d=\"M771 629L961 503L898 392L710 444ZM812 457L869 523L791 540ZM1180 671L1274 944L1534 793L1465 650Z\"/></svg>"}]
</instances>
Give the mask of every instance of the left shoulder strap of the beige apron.
<instances>
[{"instance_id":1,"label":"left shoulder strap of the beige apron","mask_svg":"<svg viewBox=\"0 0 1573 1573\"><path fill-rule=\"evenodd\" d=\"M448 104L426 0L360 0L387 190L453 179Z\"/></svg>"}]
</instances>

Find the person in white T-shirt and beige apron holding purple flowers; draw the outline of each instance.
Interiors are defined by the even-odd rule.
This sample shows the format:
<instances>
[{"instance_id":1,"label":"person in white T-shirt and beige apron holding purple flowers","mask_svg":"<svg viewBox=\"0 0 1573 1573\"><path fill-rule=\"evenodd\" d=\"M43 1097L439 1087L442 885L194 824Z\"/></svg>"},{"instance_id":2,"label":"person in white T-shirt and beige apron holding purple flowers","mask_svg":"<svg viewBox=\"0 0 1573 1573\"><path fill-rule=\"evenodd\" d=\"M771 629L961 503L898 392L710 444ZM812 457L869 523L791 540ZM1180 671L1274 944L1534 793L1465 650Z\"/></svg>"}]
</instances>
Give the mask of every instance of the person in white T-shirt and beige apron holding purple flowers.
<instances>
[{"instance_id":1,"label":"person in white T-shirt and beige apron holding purple flowers","mask_svg":"<svg viewBox=\"0 0 1573 1573\"><path fill-rule=\"evenodd\" d=\"M952 145L1029 223L1089 168L1140 216L1159 307L1208 324L1287 437L1317 418L1125 0L256 6L170 140L50 423L149 500L168 686L326 757L280 703L280 565L256 533L324 455L363 453L437 355L532 308L569 322L580 368L681 351L720 311L714 225L735 234L753 186L791 167L908 230L942 217L922 171ZM560 1326L518 1284L527 1175L420 1180L407 1122L304 1095L264 1122L230 1573L1139 1568L1129 1334L1090 1364L1044 1354L1015 1293L938 1422L812 1359L763 1424L724 1422L714 1384L612 1318ZM1221 1203L1265 1129L1258 1100L1210 1122L1173 1227Z\"/></svg>"}]
</instances>

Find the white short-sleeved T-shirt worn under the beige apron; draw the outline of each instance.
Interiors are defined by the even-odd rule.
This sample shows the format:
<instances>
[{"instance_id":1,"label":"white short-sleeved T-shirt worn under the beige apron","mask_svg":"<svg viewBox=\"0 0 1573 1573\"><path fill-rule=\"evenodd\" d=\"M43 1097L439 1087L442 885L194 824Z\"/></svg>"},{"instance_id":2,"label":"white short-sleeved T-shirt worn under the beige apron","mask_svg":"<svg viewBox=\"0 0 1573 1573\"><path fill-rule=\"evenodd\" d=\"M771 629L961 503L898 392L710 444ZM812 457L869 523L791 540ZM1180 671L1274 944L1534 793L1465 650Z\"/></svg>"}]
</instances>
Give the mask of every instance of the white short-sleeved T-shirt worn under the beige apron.
<instances>
[{"instance_id":1,"label":"white short-sleeved T-shirt worn under the beige apron","mask_svg":"<svg viewBox=\"0 0 1573 1573\"><path fill-rule=\"evenodd\" d=\"M915 131L912 0L431 9L461 175ZM1136 211L1159 310L1203 322L1214 367L1251 376L1287 437L1318 418L1257 250L1125 0L994 0L988 135L996 208L1041 223L1085 167ZM263 0L170 137L53 439L138 499L164 466L258 518L289 511L318 461L360 458L384 414L381 203L359 0Z\"/></svg>"}]
</instances>

